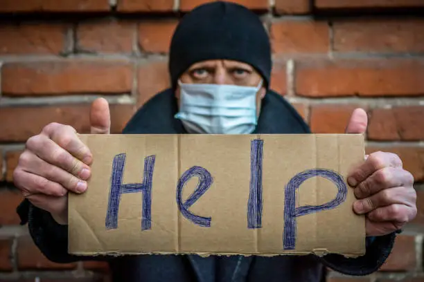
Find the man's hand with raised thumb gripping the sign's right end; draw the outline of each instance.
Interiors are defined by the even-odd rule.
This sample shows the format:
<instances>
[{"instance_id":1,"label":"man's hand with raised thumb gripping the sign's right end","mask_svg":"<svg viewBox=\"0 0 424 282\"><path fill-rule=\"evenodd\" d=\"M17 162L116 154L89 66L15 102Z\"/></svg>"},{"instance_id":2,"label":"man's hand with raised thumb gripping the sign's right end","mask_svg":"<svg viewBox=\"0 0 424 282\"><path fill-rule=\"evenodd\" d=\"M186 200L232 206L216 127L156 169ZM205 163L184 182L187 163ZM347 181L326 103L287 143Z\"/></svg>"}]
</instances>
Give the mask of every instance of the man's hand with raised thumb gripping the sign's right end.
<instances>
[{"instance_id":1,"label":"man's hand with raised thumb gripping the sign's right end","mask_svg":"<svg viewBox=\"0 0 424 282\"><path fill-rule=\"evenodd\" d=\"M364 133L367 126L364 110L356 109L346 133ZM357 201L353 210L366 216L366 236L382 236L394 232L416 216L414 177L403 169L394 153L376 152L355 167L348 176Z\"/></svg>"}]
</instances>

